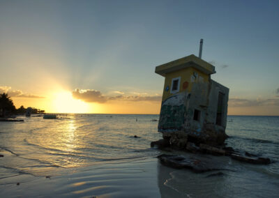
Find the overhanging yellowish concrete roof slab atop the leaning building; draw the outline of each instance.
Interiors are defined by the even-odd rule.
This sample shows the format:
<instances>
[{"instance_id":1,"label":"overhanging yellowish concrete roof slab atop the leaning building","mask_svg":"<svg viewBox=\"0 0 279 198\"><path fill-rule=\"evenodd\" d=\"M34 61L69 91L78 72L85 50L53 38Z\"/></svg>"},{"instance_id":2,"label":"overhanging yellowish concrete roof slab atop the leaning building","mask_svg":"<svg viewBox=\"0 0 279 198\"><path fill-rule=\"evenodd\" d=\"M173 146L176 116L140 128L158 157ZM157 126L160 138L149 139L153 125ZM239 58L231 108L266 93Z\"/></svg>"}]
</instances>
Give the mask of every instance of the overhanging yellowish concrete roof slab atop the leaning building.
<instances>
[{"instance_id":1,"label":"overhanging yellowish concrete roof slab atop the leaning building","mask_svg":"<svg viewBox=\"0 0 279 198\"><path fill-rule=\"evenodd\" d=\"M199 59L199 57L195 56L194 54L157 66L155 68L155 73L165 77L165 74L167 73L190 67L196 68L207 75L216 73L214 66L202 59Z\"/></svg>"}]
</instances>

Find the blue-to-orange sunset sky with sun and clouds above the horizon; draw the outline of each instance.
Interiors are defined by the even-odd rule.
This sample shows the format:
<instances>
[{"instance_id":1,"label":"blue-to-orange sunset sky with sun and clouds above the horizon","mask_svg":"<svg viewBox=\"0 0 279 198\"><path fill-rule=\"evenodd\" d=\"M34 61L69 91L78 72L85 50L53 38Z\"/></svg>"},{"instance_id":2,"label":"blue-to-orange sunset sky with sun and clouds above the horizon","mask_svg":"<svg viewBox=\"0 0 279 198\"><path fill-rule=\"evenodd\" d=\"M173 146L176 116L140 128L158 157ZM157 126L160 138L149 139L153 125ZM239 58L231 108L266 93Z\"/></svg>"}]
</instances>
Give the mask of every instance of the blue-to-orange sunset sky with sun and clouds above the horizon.
<instances>
[{"instance_id":1,"label":"blue-to-orange sunset sky with sun and clouds above the horizon","mask_svg":"<svg viewBox=\"0 0 279 198\"><path fill-rule=\"evenodd\" d=\"M159 114L155 67L216 66L228 114L279 115L279 1L0 0L0 93L46 112Z\"/></svg>"}]
</instances>

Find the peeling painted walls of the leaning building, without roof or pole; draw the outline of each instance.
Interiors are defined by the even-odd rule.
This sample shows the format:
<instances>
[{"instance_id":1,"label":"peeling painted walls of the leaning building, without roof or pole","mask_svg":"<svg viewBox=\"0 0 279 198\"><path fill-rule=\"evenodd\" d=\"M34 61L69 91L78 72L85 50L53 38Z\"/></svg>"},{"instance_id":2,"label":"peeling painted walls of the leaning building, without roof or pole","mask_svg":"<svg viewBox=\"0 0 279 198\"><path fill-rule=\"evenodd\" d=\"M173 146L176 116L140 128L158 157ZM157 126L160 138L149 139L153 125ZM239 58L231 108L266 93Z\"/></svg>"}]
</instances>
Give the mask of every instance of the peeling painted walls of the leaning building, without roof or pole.
<instances>
[{"instance_id":1,"label":"peeling painted walls of the leaning building, without roof or pole","mask_svg":"<svg viewBox=\"0 0 279 198\"><path fill-rule=\"evenodd\" d=\"M170 70L170 65L163 67L167 67L166 71ZM163 69L160 70L161 72L163 73ZM179 81L181 79L183 82L178 93L167 92L169 83L178 77ZM185 137L190 135L207 143L224 139L229 96L227 87L213 81L210 74L204 73L204 70L199 70L195 65L190 65L183 70L166 72L164 87L158 123L158 131L163 132L163 137L182 132ZM220 94L222 95L220 101L223 102L218 102Z\"/></svg>"}]
</instances>

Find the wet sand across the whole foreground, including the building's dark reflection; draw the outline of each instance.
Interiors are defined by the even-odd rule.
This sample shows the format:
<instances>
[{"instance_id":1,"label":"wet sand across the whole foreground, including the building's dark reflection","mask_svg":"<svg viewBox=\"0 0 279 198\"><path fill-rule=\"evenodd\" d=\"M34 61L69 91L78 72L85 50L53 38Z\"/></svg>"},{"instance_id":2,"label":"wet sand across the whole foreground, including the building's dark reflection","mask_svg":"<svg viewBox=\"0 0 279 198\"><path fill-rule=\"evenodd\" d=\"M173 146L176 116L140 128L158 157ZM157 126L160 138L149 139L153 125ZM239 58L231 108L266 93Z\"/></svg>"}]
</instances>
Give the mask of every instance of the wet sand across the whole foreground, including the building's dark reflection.
<instances>
[{"instance_id":1,"label":"wet sand across the whole foreground, including the building's dark reflection","mask_svg":"<svg viewBox=\"0 0 279 198\"><path fill-rule=\"evenodd\" d=\"M5 157L4 157L5 158ZM202 158L212 158L205 155ZM213 157L234 170L194 173L172 169L157 158L61 169L55 175L12 174L0 180L0 197L276 197L262 166ZM2 158L3 159L3 158ZM57 174L59 173L60 174ZM275 176L277 177L277 176ZM255 183L254 179L260 180ZM275 179L275 180L274 180ZM244 185L245 183L245 185Z\"/></svg>"}]
</instances>

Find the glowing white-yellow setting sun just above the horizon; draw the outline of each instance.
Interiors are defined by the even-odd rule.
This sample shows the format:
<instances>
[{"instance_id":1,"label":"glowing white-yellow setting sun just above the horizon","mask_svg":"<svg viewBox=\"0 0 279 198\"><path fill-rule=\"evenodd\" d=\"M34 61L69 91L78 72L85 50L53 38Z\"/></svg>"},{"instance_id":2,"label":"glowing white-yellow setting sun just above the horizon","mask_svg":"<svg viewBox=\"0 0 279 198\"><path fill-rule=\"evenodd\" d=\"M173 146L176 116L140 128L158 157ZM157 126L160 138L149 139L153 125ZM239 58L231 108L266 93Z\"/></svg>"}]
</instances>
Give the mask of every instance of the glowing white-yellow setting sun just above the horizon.
<instances>
[{"instance_id":1,"label":"glowing white-yellow setting sun just above the horizon","mask_svg":"<svg viewBox=\"0 0 279 198\"><path fill-rule=\"evenodd\" d=\"M86 102L73 98L70 91L54 93L52 103L53 109L57 113L85 114L89 112L89 105Z\"/></svg>"}]
</instances>

